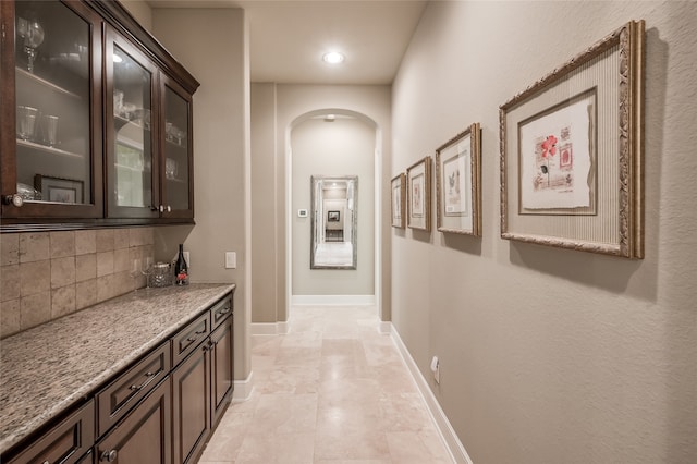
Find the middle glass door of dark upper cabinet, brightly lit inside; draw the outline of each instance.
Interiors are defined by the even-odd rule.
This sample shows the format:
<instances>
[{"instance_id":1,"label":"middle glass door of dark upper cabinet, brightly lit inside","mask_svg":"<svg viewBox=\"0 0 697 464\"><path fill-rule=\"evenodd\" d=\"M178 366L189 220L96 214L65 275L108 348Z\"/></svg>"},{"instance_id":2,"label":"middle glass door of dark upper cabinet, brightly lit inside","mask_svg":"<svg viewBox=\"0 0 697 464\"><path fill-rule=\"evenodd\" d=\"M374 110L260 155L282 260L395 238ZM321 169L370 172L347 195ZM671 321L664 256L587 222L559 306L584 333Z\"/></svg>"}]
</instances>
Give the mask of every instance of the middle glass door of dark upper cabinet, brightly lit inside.
<instances>
[{"instance_id":1,"label":"middle glass door of dark upper cabinet, brightly lit inside","mask_svg":"<svg viewBox=\"0 0 697 464\"><path fill-rule=\"evenodd\" d=\"M107 217L159 217L157 69L107 33Z\"/></svg>"}]
</instances>

